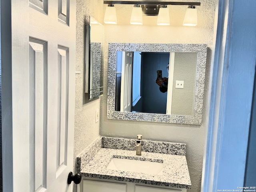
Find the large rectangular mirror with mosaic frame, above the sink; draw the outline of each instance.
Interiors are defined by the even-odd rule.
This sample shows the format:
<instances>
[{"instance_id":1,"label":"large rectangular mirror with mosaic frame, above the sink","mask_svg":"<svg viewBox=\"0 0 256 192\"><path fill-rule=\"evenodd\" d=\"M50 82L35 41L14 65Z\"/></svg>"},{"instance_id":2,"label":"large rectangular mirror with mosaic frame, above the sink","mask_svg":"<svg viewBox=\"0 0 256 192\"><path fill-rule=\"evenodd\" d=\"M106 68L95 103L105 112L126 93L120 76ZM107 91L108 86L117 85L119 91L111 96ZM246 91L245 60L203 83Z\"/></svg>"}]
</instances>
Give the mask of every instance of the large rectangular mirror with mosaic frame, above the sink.
<instances>
[{"instance_id":1,"label":"large rectangular mirror with mosaic frame, above the sink","mask_svg":"<svg viewBox=\"0 0 256 192\"><path fill-rule=\"evenodd\" d=\"M108 118L202 124L206 54L206 44L109 44Z\"/></svg>"}]
</instances>

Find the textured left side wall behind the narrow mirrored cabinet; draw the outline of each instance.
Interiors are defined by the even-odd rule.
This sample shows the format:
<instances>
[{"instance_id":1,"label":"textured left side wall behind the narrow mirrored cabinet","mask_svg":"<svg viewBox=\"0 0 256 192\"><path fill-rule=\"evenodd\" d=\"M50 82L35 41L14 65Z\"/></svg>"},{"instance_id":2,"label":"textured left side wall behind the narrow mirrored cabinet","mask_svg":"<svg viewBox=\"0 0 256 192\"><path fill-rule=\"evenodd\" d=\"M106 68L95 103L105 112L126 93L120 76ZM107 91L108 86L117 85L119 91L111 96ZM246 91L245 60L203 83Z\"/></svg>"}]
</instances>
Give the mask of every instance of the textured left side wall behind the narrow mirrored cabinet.
<instances>
[{"instance_id":1,"label":"textured left side wall behind the narrow mirrored cabinet","mask_svg":"<svg viewBox=\"0 0 256 192\"><path fill-rule=\"evenodd\" d=\"M76 71L81 74L76 74L74 162L76 156L99 136L95 110L100 109L100 99L88 102L88 94L84 94L84 24L89 24L89 16L102 23L102 12L103 0L76 1Z\"/></svg>"}]
</instances>

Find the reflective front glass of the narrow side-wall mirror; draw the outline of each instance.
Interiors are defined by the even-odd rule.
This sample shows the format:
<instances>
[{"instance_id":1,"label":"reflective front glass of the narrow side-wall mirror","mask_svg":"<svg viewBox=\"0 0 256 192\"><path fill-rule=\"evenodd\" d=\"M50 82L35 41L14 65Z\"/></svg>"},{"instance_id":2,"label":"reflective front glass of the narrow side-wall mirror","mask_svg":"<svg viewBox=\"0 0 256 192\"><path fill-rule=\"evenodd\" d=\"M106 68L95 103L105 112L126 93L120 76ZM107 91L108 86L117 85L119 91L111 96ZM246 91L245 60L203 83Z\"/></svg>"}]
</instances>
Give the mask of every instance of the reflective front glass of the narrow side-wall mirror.
<instances>
[{"instance_id":1,"label":"reflective front glass of the narrow side-wall mirror","mask_svg":"<svg viewBox=\"0 0 256 192\"><path fill-rule=\"evenodd\" d=\"M90 52L89 52L89 100L98 98L103 93L102 87L102 42L103 25L90 17Z\"/></svg>"}]
</instances>

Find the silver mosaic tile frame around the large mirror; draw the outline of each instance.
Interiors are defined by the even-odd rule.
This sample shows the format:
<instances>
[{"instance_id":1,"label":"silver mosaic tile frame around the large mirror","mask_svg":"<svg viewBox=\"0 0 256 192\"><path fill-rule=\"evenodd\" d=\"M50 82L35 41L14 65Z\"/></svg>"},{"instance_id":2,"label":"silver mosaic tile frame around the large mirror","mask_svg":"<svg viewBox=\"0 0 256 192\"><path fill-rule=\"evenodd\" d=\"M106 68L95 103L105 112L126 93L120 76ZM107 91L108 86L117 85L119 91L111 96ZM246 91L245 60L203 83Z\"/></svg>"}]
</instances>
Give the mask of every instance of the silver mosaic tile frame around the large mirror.
<instances>
[{"instance_id":1,"label":"silver mosaic tile frame around the large mirror","mask_svg":"<svg viewBox=\"0 0 256 192\"><path fill-rule=\"evenodd\" d=\"M131 52L196 52L196 84L193 115L154 114L115 111L116 103L116 55L118 51ZM204 82L206 71L206 44L130 44L109 43L108 46L108 98L107 118L175 124L202 124Z\"/></svg>"}]
</instances>

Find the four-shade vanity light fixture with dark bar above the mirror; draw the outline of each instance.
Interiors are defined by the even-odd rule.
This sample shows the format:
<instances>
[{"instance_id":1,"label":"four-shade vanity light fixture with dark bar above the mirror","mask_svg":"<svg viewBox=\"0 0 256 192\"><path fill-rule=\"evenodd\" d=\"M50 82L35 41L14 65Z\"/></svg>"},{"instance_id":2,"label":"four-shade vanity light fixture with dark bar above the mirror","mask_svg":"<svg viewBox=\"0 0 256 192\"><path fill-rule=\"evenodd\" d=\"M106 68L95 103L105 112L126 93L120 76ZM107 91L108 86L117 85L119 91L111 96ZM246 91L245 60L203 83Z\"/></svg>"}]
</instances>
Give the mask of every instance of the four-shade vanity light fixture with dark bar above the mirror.
<instances>
[{"instance_id":1,"label":"four-shade vanity light fixture with dark bar above the mirror","mask_svg":"<svg viewBox=\"0 0 256 192\"><path fill-rule=\"evenodd\" d=\"M161 4L162 3L162 4ZM131 24L142 24L142 8L145 15L158 15L157 25L170 25L169 9L167 5L187 5L184 26L196 26L197 25L197 12L195 6L200 6L200 2L158 2L158 1L104 1L104 4L108 4L106 7L104 23L117 24L116 22L116 9L114 4L133 4L132 16L130 19ZM155 6L153 12L147 12L147 8ZM160 7L160 8L159 8ZM110 9L111 8L111 9ZM159 12L158 12L159 9ZM111 16L110 16L111 15Z\"/></svg>"}]
</instances>

